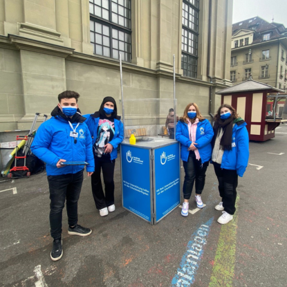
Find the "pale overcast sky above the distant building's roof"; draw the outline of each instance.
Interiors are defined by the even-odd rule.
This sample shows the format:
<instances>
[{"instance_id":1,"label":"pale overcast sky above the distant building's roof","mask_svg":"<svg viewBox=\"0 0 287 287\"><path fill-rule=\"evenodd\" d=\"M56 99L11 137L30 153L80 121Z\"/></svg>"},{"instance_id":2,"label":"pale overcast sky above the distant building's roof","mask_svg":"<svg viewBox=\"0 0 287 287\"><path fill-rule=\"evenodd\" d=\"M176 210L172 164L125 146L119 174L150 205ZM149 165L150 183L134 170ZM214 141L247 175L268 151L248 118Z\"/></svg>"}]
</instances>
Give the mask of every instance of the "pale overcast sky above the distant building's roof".
<instances>
[{"instance_id":1,"label":"pale overcast sky above the distant building's roof","mask_svg":"<svg viewBox=\"0 0 287 287\"><path fill-rule=\"evenodd\" d=\"M287 0L233 0L232 24L256 16L287 28Z\"/></svg>"}]
</instances>

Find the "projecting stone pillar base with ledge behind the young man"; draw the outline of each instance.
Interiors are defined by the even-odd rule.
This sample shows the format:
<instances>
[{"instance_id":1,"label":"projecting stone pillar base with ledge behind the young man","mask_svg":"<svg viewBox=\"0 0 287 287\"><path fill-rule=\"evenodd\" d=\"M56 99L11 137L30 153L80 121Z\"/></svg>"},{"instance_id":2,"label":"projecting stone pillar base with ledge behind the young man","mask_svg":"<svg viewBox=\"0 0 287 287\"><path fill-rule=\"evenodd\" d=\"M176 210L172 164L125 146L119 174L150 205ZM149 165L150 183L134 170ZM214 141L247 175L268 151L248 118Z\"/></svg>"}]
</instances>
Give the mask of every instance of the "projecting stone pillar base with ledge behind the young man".
<instances>
[{"instance_id":1,"label":"projecting stone pillar base with ledge behind the young man","mask_svg":"<svg viewBox=\"0 0 287 287\"><path fill-rule=\"evenodd\" d=\"M50 115L57 95L66 90L65 57L73 49L12 35L10 41L19 50L21 61L24 117L18 120L18 129L27 129L35 113Z\"/></svg>"}]
</instances>

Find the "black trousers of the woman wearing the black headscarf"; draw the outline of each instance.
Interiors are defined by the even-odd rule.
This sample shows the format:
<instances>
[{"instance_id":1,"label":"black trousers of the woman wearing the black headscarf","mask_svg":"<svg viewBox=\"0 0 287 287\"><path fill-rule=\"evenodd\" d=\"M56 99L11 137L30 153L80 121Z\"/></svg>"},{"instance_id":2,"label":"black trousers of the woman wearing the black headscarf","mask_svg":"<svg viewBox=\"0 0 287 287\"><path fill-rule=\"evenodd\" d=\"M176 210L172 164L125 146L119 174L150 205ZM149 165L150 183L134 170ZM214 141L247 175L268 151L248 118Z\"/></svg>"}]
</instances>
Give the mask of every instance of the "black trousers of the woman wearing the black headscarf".
<instances>
[{"instance_id":1,"label":"black trousers of the woman wearing the black headscarf","mask_svg":"<svg viewBox=\"0 0 287 287\"><path fill-rule=\"evenodd\" d=\"M104 190L102 189L101 169L104 178ZM102 208L109 207L115 203L115 183L113 182L114 171L115 160L101 161L98 160L98 158L95 158L95 172L91 176L91 184L95 207L97 207L98 210L102 210Z\"/></svg>"}]
</instances>

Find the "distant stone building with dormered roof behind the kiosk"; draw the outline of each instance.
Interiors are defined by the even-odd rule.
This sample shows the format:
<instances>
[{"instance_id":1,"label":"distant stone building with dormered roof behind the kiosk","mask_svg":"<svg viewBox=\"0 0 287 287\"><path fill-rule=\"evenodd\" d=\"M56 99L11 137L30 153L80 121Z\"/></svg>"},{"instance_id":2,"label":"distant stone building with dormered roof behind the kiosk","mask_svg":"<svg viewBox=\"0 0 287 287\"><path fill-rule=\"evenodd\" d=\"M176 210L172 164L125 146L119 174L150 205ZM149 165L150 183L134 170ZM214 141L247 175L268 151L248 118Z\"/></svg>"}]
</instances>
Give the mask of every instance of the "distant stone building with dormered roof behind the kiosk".
<instances>
[{"instance_id":1,"label":"distant stone building with dormered roof behind the kiosk","mask_svg":"<svg viewBox=\"0 0 287 287\"><path fill-rule=\"evenodd\" d=\"M230 80L252 79L287 91L287 29L260 17L232 25Z\"/></svg>"}]
</instances>

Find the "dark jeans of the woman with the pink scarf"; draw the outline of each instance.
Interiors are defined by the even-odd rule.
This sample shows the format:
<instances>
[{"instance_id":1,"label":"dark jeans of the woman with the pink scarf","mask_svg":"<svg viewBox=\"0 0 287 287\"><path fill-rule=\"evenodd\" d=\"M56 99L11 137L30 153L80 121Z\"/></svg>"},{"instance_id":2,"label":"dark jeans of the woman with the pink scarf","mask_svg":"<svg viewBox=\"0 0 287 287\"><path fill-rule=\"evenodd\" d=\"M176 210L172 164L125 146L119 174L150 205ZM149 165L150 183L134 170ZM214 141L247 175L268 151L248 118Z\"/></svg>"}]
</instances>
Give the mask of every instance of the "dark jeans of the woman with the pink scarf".
<instances>
[{"instance_id":1,"label":"dark jeans of the woman with the pink scarf","mask_svg":"<svg viewBox=\"0 0 287 287\"><path fill-rule=\"evenodd\" d=\"M196 160L193 151L189 151L189 157L187 162L183 162L185 169L185 181L183 183L183 198L189 199L192 195L192 188L194 187L195 180L195 192L201 194L205 185L205 172L209 162L201 163L200 160Z\"/></svg>"}]
</instances>

